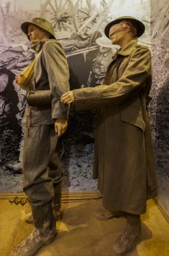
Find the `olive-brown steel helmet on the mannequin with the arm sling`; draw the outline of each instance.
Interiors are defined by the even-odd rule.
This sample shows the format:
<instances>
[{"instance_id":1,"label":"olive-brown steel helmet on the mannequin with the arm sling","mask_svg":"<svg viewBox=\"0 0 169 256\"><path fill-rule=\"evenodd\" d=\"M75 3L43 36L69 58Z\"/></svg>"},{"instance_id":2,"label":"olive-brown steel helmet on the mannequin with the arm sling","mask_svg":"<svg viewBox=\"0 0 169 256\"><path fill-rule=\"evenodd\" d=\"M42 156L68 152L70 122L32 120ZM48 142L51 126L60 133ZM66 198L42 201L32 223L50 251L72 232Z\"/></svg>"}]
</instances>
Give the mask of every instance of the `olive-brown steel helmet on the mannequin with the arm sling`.
<instances>
[{"instance_id":1,"label":"olive-brown steel helmet on the mannequin with the arm sling","mask_svg":"<svg viewBox=\"0 0 169 256\"><path fill-rule=\"evenodd\" d=\"M52 24L48 20L46 20L44 18L41 18L41 17L35 17L30 22L26 21L26 22L22 23L21 29L26 35L28 33L28 26L29 25L36 25L39 28L48 31L48 33L50 33L50 35L51 35L51 38L55 39L54 27L52 26ZM27 36L27 38L30 40L29 36Z\"/></svg>"}]
</instances>

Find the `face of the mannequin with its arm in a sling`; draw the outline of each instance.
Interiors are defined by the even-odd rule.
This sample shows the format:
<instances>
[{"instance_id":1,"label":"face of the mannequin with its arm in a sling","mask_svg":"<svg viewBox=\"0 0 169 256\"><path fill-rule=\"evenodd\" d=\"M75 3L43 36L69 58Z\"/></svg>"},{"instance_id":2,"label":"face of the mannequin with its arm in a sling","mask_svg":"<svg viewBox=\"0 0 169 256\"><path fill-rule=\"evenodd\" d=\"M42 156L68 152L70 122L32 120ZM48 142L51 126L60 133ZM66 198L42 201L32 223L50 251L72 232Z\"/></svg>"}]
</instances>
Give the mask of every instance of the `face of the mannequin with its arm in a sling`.
<instances>
[{"instance_id":1,"label":"face of the mannequin with its arm in a sling","mask_svg":"<svg viewBox=\"0 0 169 256\"><path fill-rule=\"evenodd\" d=\"M37 40L45 38L45 31L38 28L38 26L34 26L31 24L28 26L27 36L29 36L31 43L34 43Z\"/></svg>"}]
</instances>

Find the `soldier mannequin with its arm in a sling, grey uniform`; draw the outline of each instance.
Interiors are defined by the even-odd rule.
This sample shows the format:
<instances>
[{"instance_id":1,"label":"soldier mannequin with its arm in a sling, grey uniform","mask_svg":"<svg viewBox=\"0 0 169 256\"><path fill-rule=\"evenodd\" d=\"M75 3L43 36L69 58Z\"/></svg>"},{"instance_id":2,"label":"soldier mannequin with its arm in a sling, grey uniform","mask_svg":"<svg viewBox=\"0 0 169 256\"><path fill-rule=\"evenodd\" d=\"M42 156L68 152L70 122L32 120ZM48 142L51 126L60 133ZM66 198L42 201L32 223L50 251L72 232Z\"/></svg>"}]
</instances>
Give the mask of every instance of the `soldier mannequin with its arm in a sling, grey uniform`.
<instances>
[{"instance_id":1,"label":"soldier mannequin with its arm in a sling, grey uniform","mask_svg":"<svg viewBox=\"0 0 169 256\"><path fill-rule=\"evenodd\" d=\"M55 221L61 214L59 137L68 125L68 106L60 98L70 88L68 63L62 45L55 40L52 24L36 17L24 22L21 29L38 54L17 77L17 83L43 97L33 104L29 101L24 116L23 189L31 204L29 218L35 228L10 256L32 256L55 239ZM50 102L44 98L46 92L50 92Z\"/></svg>"}]
</instances>

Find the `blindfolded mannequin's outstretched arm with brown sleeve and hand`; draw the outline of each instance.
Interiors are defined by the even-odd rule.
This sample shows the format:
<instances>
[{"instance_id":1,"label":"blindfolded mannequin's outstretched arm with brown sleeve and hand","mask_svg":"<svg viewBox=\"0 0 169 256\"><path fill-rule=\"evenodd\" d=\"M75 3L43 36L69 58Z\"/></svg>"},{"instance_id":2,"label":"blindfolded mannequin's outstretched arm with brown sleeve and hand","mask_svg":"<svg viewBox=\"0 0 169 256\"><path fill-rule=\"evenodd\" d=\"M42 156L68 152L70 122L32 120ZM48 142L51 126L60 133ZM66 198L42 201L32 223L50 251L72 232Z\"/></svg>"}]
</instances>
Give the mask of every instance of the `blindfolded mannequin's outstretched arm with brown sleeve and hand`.
<instances>
[{"instance_id":1,"label":"blindfolded mannequin's outstretched arm with brown sleeve and hand","mask_svg":"<svg viewBox=\"0 0 169 256\"><path fill-rule=\"evenodd\" d=\"M62 95L62 102L67 104L75 101L78 109L91 109L103 104L121 104L135 90L142 90L151 68L151 54L149 50L136 48L131 53L128 67L122 77L110 85L102 84L87 87Z\"/></svg>"}]
</instances>

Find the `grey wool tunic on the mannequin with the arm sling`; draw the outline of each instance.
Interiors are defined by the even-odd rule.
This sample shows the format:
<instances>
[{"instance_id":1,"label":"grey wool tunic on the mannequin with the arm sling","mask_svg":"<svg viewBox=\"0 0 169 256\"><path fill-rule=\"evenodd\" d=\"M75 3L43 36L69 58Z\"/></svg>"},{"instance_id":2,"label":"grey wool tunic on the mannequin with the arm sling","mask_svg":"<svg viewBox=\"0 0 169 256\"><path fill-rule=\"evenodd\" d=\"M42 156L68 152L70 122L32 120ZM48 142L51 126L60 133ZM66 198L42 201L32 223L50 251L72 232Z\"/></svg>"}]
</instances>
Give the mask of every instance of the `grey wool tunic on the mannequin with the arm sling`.
<instances>
[{"instance_id":1,"label":"grey wool tunic on the mannequin with the arm sling","mask_svg":"<svg viewBox=\"0 0 169 256\"><path fill-rule=\"evenodd\" d=\"M70 73L62 45L55 39L42 39L35 50L41 50L40 58L34 65L30 90L50 90L51 106L26 106L24 123L26 126L54 124L56 118L68 117L68 106L61 103L60 97L70 90Z\"/></svg>"}]
</instances>

